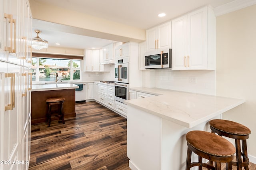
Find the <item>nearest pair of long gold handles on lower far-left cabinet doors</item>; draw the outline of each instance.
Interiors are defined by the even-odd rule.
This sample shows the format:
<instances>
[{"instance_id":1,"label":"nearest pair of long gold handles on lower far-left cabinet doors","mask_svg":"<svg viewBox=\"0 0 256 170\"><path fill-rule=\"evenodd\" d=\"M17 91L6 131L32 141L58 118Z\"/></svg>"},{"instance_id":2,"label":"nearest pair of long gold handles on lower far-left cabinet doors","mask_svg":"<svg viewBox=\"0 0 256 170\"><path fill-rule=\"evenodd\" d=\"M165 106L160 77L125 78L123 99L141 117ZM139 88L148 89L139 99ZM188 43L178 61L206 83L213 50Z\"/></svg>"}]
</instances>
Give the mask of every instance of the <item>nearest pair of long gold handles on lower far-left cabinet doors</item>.
<instances>
[{"instance_id":1,"label":"nearest pair of long gold handles on lower far-left cabinet doors","mask_svg":"<svg viewBox=\"0 0 256 170\"><path fill-rule=\"evenodd\" d=\"M15 73L5 73L5 78L11 77L11 85L10 85L10 104L7 104L4 107L5 111L12 110L15 107Z\"/></svg>"}]
</instances>

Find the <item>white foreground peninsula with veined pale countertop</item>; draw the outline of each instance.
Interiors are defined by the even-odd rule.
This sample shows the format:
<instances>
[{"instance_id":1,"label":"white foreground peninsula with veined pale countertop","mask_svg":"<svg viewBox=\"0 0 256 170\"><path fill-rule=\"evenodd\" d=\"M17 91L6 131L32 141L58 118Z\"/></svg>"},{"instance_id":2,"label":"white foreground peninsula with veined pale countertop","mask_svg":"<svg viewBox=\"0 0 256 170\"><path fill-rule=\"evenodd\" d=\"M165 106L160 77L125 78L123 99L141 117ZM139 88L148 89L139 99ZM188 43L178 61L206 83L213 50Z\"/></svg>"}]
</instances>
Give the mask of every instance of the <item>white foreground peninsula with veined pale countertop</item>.
<instances>
[{"instance_id":1,"label":"white foreground peninsula with veined pale countertop","mask_svg":"<svg viewBox=\"0 0 256 170\"><path fill-rule=\"evenodd\" d=\"M131 88L156 96L125 101L127 156L132 170L182 170L186 166L185 135L210 132L208 121L245 102L213 95L157 88ZM192 154L192 160L197 157Z\"/></svg>"}]
</instances>

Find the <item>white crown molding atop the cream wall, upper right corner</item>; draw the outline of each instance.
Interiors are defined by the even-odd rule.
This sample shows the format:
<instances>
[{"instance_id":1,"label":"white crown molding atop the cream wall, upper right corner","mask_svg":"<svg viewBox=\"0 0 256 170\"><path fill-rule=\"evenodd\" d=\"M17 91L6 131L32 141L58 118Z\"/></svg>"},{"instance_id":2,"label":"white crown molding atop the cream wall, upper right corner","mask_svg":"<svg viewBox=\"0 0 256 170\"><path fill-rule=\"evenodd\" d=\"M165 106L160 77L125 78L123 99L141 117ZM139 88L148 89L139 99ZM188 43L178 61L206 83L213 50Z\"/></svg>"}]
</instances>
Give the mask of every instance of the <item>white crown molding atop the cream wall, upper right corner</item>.
<instances>
[{"instance_id":1,"label":"white crown molding atop the cream wall, upper right corner","mask_svg":"<svg viewBox=\"0 0 256 170\"><path fill-rule=\"evenodd\" d=\"M214 13L215 16L220 16L254 4L256 4L256 0L234 0L232 2L214 8Z\"/></svg>"}]
</instances>

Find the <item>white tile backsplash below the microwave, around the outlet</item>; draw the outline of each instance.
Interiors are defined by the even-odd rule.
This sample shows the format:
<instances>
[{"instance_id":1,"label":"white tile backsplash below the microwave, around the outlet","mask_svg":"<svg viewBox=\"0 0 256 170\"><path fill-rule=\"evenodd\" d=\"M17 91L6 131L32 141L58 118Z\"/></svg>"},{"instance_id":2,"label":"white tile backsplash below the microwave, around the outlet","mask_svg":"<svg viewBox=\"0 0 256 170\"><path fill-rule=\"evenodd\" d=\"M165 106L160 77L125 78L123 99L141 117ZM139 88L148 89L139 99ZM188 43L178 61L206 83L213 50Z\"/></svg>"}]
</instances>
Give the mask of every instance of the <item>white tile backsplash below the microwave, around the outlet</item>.
<instances>
[{"instance_id":1,"label":"white tile backsplash below the microwave, around the outlet","mask_svg":"<svg viewBox=\"0 0 256 170\"><path fill-rule=\"evenodd\" d=\"M190 83L190 77L196 77L196 83ZM215 71L172 71L156 69L143 71L144 87L187 91L208 95L216 94Z\"/></svg>"}]
</instances>

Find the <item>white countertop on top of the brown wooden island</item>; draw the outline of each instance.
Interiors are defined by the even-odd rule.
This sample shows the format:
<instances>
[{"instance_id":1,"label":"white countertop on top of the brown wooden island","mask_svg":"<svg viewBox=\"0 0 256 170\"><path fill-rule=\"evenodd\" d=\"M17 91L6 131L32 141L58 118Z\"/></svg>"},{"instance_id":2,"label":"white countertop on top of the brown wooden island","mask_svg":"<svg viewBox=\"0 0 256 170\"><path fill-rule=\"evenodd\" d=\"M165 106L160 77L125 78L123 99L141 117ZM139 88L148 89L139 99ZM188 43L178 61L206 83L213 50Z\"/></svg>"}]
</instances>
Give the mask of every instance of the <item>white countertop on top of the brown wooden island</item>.
<instances>
[{"instance_id":1,"label":"white countertop on top of the brown wooden island","mask_svg":"<svg viewBox=\"0 0 256 170\"><path fill-rule=\"evenodd\" d=\"M72 83L54 83L54 84L32 85L31 91L65 90L65 89L77 89L77 88L79 88L79 86Z\"/></svg>"}]
</instances>

